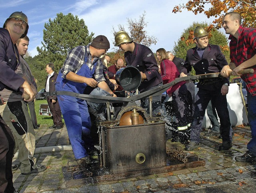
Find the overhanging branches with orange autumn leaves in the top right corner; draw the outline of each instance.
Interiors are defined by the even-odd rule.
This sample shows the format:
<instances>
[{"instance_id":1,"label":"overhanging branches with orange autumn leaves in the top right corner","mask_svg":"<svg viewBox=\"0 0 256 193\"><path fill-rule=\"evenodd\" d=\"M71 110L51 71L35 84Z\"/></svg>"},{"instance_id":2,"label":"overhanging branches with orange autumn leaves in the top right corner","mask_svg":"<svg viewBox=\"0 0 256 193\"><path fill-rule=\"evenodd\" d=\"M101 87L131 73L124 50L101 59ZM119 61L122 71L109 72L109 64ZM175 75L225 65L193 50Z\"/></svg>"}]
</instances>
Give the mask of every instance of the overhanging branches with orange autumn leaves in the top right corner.
<instances>
[{"instance_id":1,"label":"overhanging branches with orange autumn leaves in the top right corner","mask_svg":"<svg viewBox=\"0 0 256 193\"><path fill-rule=\"evenodd\" d=\"M243 18L244 27L256 27L256 0L189 0L185 5L175 6L172 12L182 12L182 9L192 11L195 15L204 12L210 18L216 19L213 21L216 29L222 27L222 18L224 14L234 11L238 12ZM210 9L206 10L205 6L209 4Z\"/></svg>"}]
</instances>

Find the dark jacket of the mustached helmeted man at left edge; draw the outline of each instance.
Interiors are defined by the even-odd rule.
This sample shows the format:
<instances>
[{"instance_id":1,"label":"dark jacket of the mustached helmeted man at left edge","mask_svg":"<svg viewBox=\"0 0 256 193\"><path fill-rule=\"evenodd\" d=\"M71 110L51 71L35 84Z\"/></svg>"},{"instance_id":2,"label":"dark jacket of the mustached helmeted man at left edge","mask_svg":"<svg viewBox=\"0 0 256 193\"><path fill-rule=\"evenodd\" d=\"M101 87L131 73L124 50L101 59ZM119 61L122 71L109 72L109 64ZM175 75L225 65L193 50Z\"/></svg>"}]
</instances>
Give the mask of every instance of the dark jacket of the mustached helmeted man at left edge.
<instances>
[{"instance_id":1,"label":"dark jacket of the mustached helmeted man at left edge","mask_svg":"<svg viewBox=\"0 0 256 193\"><path fill-rule=\"evenodd\" d=\"M15 73L15 70L18 67L18 62L14 49L16 50L18 60L20 61L17 46L12 43L8 30L0 28L0 91L5 87L18 91L25 81Z\"/></svg>"}]
</instances>

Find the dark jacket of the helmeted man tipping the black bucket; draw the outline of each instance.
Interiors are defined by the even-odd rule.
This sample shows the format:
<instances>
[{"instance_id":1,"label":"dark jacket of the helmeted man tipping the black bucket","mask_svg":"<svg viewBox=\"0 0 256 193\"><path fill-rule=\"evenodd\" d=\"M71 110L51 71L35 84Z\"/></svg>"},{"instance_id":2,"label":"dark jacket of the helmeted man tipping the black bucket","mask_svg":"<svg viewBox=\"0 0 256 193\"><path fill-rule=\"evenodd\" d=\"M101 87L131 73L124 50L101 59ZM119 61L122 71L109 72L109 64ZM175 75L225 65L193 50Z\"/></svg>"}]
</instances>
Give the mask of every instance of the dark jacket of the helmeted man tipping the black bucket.
<instances>
[{"instance_id":1,"label":"dark jacket of the helmeted man tipping the black bucket","mask_svg":"<svg viewBox=\"0 0 256 193\"><path fill-rule=\"evenodd\" d=\"M138 68L140 72L146 74L147 79L144 80L138 88L140 92L144 92L162 83L162 78L158 72L158 65L153 52L147 46L135 42L134 44L134 51L124 52L124 59L126 66L132 65Z\"/></svg>"}]
</instances>

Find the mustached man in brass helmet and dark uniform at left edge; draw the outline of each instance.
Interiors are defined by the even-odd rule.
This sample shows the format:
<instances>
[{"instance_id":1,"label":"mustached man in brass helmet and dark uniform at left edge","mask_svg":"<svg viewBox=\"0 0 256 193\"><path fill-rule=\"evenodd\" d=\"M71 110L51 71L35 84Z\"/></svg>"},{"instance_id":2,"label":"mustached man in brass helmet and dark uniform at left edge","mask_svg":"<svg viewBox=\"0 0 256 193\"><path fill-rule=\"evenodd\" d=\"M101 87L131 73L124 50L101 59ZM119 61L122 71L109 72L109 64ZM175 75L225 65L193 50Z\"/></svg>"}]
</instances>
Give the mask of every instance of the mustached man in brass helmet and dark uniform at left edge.
<instances>
[{"instance_id":1,"label":"mustached man in brass helmet and dark uniform at left edge","mask_svg":"<svg viewBox=\"0 0 256 193\"><path fill-rule=\"evenodd\" d=\"M25 101L32 101L36 92L30 84L15 73L20 62L16 42L19 38L25 37L28 33L28 18L22 12L14 12L4 22L0 28L0 95L4 88L14 91L21 90L23 96L27 94L29 98ZM0 105L5 104L2 98ZM12 182L12 156L15 147L14 137L10 128L0 116L0 192L13 193L16 190Z\"/></svg>"}]
</instances>

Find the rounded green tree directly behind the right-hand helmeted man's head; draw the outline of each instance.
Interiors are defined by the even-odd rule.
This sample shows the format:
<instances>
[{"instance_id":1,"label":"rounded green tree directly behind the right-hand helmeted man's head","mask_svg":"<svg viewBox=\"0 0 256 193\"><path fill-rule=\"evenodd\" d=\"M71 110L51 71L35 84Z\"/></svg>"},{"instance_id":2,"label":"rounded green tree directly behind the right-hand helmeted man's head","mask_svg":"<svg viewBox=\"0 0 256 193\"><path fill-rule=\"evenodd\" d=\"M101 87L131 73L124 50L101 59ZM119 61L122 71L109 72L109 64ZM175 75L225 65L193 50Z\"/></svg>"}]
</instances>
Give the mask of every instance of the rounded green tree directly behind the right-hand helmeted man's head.
<instances>
[{"instance_id":1,"label":"rounded green tree directly behind the right-hand helmeted man's head","mask_svg":"<svg viewBox=\"0 0 256 193\"><path fill-rule=\"evenodd\" d=\"M225 34L222 32L219 32L218 30L215 30L213 28L209 28L208 24L205 22L198 23L194 22L191 26L189 26L184 32L182 33L182 36L180 40L176 43L174 43L174 48L172 52L175 56L178 58L186 58L187 50L190 48L194 48L196 44L193 41L190 41L191 36L193 36L194 33L191 34L191 32L194 31L196 26L202 26L206 31L209 33L209 44L216 44L219 45L222 53L226 57L226 60L230 62L230 52L229 49L226 49L228 46L228 39L226 38ZM209 31L210 29L210 31ZM192 74L195 74L194 70L192 70Z\"/></svg>"}]
</instances>

